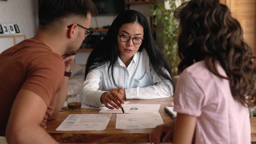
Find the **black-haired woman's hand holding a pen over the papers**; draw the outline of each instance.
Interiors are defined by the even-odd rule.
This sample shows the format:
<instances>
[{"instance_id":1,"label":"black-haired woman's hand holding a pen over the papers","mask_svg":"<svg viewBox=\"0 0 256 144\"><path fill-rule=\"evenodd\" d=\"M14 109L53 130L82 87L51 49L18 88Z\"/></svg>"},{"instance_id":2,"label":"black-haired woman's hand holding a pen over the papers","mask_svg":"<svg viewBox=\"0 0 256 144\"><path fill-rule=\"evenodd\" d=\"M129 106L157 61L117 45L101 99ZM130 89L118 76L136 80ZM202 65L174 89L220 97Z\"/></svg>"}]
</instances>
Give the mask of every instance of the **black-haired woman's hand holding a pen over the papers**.
<instances>
[{"instance_id":1,"label":"black-haired woman's hand holding a pen over the papers","mask_svg":"<svg viewBox=\"0 0 256 144\"><path fill-rule=\"evenodd\" d=\"M109 90L109 93L106 92L102 94L100 101L109 109L114 109L114 108L119 109L122 107L121 104L124 104L124 101L122 100L123 96L125 97L125 91L123 88L111 89ZM112 107L109 106L108 104L111 105Z\"/></svg>"}]
</instances>

